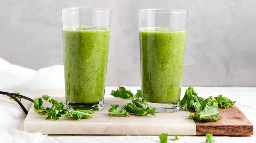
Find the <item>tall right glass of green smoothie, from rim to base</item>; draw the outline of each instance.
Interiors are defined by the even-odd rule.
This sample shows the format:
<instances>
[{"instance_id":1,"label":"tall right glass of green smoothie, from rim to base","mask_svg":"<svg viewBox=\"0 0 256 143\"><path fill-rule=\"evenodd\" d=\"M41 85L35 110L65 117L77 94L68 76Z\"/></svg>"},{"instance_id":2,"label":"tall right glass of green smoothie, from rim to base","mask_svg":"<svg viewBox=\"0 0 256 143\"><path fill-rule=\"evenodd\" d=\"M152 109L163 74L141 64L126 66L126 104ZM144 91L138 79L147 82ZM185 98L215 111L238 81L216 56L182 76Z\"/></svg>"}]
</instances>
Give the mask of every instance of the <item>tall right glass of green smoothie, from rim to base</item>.
<instances>
[{"instance_id":1,"label":"tall right glass of green smoothie, from rim to base","mask_svg":"<svg viewBox=\"0 0 256 143\"><path fill-rule=\"evenodd\" d=\"M187 10L139 9L142 98L156 112L180 106Z\"/></svg>"}]
</instances>

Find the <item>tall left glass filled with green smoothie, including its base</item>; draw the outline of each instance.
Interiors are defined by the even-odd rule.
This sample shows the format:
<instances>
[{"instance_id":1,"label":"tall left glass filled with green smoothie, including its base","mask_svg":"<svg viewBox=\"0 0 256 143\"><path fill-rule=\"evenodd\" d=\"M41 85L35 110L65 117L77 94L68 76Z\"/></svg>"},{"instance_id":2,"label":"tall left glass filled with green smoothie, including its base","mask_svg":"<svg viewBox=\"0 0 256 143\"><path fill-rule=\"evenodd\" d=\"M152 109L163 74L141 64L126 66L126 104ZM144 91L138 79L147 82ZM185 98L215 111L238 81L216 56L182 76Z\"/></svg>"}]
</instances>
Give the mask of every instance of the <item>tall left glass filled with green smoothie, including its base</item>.
<instances>
[{"instance_id":1,"label":"tall left glass filled with green smoothie, including its base","mask_svg":"<svg viewBox=\"0 0 256 143\"><path fill-rule=\"evenodd\" d=\"M66 107L103 108L111 9L61 8Z\"/></svg>"}]
</instances>

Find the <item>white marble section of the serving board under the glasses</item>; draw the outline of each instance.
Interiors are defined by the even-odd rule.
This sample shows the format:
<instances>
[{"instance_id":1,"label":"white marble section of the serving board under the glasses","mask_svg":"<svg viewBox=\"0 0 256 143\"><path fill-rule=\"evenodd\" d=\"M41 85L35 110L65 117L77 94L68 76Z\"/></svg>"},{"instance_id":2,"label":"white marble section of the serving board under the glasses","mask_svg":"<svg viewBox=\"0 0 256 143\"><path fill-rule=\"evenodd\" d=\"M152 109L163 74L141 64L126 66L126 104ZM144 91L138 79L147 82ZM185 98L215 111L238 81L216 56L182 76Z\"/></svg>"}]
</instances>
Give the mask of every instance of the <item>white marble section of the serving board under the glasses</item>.
<instances>
[{"instance_id":1,"label":"white marble section of the serving board under the glasses","mask_svg":"<svg viewBox=\"0 0 256 143\"><path fill-rule=\"evenodd\" d=\"M59 102L65 102L64 97L53 97ZM43 100L44 101L44 100ZM80 135L195 135L196 125L188 111L179 110L174 113L156 113L138 116L129 114L129 117L109 117L110 104L119 104L119 109L132 99L105 98L104 108L95 111L93 118L83 118L80 121L62 116L59 120L45 120L47 117L33 111L31 106L24 121L24 132L42 134L80 134ZM50 105L44 101L44 107Z\"/></svg>"}]
</instances>

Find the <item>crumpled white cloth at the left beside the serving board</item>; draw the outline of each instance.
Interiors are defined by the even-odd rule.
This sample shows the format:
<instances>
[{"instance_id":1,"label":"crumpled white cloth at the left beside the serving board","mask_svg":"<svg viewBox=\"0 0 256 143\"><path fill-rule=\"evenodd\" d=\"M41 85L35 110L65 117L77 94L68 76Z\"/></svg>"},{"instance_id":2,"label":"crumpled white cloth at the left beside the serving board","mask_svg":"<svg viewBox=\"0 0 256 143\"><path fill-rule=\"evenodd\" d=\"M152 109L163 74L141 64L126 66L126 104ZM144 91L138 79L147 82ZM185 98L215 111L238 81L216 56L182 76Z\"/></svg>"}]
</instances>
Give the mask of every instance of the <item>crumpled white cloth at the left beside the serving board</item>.
<instances>
[{"instance_id":1,"label":"crumpled white cloth at the left beside the serving board","mask_svg":"<svg viewBox=\"0 0 256 143\"><path fill-rule=\"evenodd\" d=\"M63 66L56 65L38 71L11 64L0 57L0 91L19 92L35 99L43 95L64 96ZM32 102L21 99L27 110ZM47 135L26 133L23 123L26 114L14 100L0 95L0 141L15 143L39 143Z\"/></svg>"}]
</instances>

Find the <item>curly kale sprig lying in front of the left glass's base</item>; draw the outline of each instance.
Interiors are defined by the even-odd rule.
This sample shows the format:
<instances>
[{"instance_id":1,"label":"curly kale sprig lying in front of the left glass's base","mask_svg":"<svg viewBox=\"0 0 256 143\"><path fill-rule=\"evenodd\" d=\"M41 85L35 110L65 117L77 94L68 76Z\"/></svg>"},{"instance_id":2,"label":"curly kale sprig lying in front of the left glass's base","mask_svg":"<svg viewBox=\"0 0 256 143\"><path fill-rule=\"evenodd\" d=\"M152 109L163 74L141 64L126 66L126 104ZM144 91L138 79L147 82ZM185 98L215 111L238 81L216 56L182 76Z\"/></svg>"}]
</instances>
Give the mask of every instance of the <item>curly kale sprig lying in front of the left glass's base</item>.
<instances>
[{"instance_id":1,"label":"curly kale sprig lying in front of the left glass's base","mask_svg":"<svg viewBox=\"0 0 256 143\"><path fill-rule=\"evenodd\" d=\"M52 106L49 106L47 108L43 108L43 100L48 101L52 103ZM70 110L68 111L67 109L64 108L65 104L63 102L58 102L57 100L52 99L48 95L42 96L42 98L37 98L34 100L34 111L36 113L42 113L44 115L47 115L45 118L46 120L48 119L53 119L57 120L59 119L62 115L65 115L66 117L71 117L73 119L78 119L80 120L81 118L92 118L94 111L93 109L90 110Z\"/></svg>"}]
</instances>

